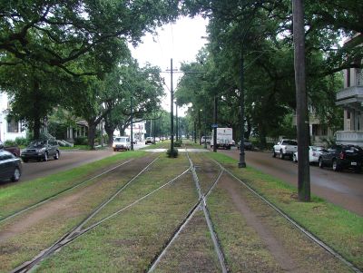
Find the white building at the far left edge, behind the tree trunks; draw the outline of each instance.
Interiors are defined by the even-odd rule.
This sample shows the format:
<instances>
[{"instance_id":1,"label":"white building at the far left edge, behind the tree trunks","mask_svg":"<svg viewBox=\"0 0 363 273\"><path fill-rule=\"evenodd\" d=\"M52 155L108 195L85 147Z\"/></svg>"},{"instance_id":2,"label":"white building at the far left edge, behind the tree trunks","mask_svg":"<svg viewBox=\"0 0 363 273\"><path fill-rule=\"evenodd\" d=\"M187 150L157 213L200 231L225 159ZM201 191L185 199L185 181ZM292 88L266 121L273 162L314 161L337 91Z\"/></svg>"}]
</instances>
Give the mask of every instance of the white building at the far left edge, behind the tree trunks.
<instances>
[{"instance_id":1,"label":"white building at the far left edge, behind the tree trunks","mask_svg":"<svg viewBox=\"0 0 363 273\"><path fill-rule=\"evenodd\" d=\"M0 93L0 140L15 141L26 137L26 128L22 122L7 121L9 100L6 93Z\"/></svg>"}]
</instances>

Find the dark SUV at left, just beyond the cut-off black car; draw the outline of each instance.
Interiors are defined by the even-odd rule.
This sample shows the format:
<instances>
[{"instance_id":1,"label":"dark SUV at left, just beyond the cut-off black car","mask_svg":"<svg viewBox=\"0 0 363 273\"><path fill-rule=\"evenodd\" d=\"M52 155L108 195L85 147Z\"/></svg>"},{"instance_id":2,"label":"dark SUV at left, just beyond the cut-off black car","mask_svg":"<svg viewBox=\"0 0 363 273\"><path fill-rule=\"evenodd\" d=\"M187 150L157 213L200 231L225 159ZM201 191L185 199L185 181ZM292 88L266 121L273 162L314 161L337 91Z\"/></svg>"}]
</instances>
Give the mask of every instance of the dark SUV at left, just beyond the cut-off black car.
<instances>
[{"instance_id":1,"label":"dark SUV at left, just beyond the cut-off black car","mask_svg":"<svg viewBox=\"0 0 363 273\"><path fill-rule=\"evenodd\" d=\"M61 156L57 141L37 140L32 141L21 153L23 161L48 161L51 157L58 160Z\"/></svg>"}]
</instances>

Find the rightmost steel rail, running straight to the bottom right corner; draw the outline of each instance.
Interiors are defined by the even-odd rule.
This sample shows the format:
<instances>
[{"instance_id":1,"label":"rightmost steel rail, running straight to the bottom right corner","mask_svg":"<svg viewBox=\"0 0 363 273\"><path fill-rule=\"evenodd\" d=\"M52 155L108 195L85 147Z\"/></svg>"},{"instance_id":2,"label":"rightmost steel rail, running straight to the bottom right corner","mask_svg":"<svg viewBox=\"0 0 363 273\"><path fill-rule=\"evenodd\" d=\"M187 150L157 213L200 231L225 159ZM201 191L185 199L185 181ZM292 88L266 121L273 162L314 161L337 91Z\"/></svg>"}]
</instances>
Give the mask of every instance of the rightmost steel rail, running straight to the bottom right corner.
<instances>
[{"instance_id":1,"label":"rightmost steel rail, running straight to the bottom right corner","mask_svg":"<svg viewBox=\"0 0 363 273\"><path fill-rule=\"evenodd\" d=\"M221 164L218 161L215 161L217 164L221 166ZM221 166L223 171L226 171L233 177L235 180L238 180L244 187L246 187L248 190L250 190L252 193L254 193L257 197L260 198L260 200L264 201L266 204L270 206L273 210L277 211L283 218L287 219L289 223L291 223L295 228L299 229L303 234L305 234L309 239L311 239L313 242L318 244L322 249L325 249L329 252L332 256L335 258L338 258L340 261L342 261L344 264L348 266L348 268L352 269L356 273L363 273L359 268L357 268L354 264L349 262L346 258L344 258L342 255L338 253L335 249L330 248L325 242L323 242L321 239L319 239L314 234L310 233L307 229L304 229L302 226L299 225L298 222L296 222L294 219L291 219L288 214L286 214L284 211L280 210L277 206L272 204L269 200L264 198L260 195L256 190L252 189L248 184L240 180L238 177L236 177L231 171Z\"/></svg>"}]
</instances>

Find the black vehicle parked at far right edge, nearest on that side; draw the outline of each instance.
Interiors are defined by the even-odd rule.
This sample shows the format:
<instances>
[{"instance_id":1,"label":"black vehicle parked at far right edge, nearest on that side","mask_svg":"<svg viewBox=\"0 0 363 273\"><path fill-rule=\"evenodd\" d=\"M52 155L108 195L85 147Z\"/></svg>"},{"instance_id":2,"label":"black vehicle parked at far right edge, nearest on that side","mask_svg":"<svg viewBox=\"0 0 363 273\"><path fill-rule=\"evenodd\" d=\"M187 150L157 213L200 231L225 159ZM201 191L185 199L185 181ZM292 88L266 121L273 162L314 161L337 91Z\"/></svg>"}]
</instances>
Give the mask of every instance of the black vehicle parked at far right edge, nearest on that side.
<instances>
[{"instance_id":1,"label":"black vehicle parked at far right edge, nearest on that side","mask_svg":"<svg viewBox=\"0 0 363 273\"><path fill-rule=\"evenodd\" d=\"M354 145L334 145L319 156L319 167L332 167L334 171L353 169L361 171L363 164L363 150Z\"/></svg>"}]
</instances>

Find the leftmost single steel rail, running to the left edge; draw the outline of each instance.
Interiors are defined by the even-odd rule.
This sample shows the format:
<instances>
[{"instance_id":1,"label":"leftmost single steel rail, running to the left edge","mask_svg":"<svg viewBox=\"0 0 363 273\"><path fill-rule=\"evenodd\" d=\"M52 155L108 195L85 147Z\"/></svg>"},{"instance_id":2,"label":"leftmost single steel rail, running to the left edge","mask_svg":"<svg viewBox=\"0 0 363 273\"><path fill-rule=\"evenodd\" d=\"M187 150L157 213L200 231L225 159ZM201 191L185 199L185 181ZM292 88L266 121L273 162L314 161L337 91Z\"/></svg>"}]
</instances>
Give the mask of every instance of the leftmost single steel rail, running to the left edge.
<instances>
[{"instance_id":1,"label":"leftmost single steel rail, running to the left edge","mask_svg":"<svg viewBox=\"0 0 363 273\"><path fill-rule=\"evenodd\" d=\"M36 207L39 207L40 205L43 205L44 203L46 203L46 202L48 202L48 201L50 201L50 200L54 200L56 197L58 197L58 196L59 196L59 195L61 195L62 193L67 192L67 191L70 191L70 190L74 190L74 189L76 189L76 188L78 188L78 187L81 187L84 183L89 182L89 181L91 181L91 180L94 180L94 179L96 179L96 178L99 178L100 176L103 176L104 174L106 174L106 173L108 173L108 172L110 172L110 171L113 171L113 170L115 170L115 169L117 169L117 168L120 168L120 167L121 167L121 166L123 166L124 164L129 163L129 162L131 162L131 161L133 161L133 159L132 159L132 160L130 160L130 161L124 161L123 163L121 163L121 164L119 164L119 165L117 165L117 166L115 166L115 167L111 168L110 170L103 171L102 173L99 173L99 174L97 174L97 175L95 175L95 176L93 176L92 178L89 178L89 179L87 179L87 180L83 180L82 182L80 182L80 183L78 183L78 184L76 184L76 185L74 185L74 186L72 186L72 187L69 187L69 188L67 188L67 189L64 189L64 190L58 191L57 193L54 193L54 195L52 195L52 196L50 196L50 197L47 197L47 198L45 198L44 200L40 200L40 201L38 201L38 202L34 203L33 205L31 205L31 206L29 206L29 207L26 207L25 209L17 210L15 213L13 213L13 214L11 214L11 215L8 215L8 216L6 216L6 217L4 217L4 218L0 219L0 224L1 224L1 223L3 223L3 222L5 222L5 220L12 219L12 218L14 218L15 216L18 216L18 215L20 215L20 214L24 213L24 212L25 212L25 211L27 211L27 210L32 210L32 209L34 209L34 208L36 208Z\"/></svg>"}]
</instances>

